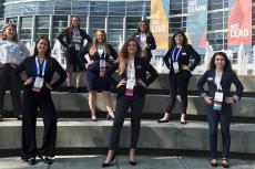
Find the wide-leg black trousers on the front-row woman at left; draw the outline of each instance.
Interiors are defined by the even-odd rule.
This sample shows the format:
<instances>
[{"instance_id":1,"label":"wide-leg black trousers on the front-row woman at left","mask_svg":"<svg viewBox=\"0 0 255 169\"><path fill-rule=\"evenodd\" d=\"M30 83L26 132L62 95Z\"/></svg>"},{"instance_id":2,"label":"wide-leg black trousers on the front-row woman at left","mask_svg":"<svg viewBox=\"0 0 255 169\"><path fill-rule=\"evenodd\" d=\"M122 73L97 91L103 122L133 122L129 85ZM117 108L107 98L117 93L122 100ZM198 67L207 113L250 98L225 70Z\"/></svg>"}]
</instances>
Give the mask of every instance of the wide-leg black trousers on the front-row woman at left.
<instances>
[{"instance_id":1,"label":"wide-leg black trousers on the front-row woman at left","mask_svg":"<svg viewBox=\"0 0 255 169\"><path fill-rule=\"evenodd\" d=\"M23 120L22 120L22 159L42 156L53 157L55 155L57 138L57 113L50 92L34 93L26 88L23 94ZM35 125L38 107L42 113L44 134L43 142L37 152Z\"/></svg>"}]
</instances>

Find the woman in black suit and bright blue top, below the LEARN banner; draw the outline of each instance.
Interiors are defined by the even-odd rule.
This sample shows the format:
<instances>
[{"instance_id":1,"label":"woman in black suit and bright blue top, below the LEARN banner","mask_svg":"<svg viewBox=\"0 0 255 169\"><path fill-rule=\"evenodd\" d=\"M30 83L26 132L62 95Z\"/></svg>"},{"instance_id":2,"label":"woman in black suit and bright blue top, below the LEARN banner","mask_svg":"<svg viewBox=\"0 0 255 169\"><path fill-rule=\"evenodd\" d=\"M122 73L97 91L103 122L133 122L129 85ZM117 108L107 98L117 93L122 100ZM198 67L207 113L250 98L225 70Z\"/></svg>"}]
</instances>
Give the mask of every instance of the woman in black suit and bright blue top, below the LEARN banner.
<instances>
[{"instance_id":1,"label":"woman in black suit and bright blue top, below the LEARN banner","mask_svg":"<svg viewBox=\"0 0 255 169\"><path fill-rule=\"evenodd\" d=\"M190 65L190 59L194 59L194 63ZM192 45L187 44L187 38L183 31L174 33L169 52L164 56L164 63L170 70L170 102L166 106L164 117L159 123L167 123L170 114L173 110L177 88L181 94L181 124L186 124L187 108L187 86L192 76L191 72L200 64L201 57Z\"/></svg>"}]
</instances>

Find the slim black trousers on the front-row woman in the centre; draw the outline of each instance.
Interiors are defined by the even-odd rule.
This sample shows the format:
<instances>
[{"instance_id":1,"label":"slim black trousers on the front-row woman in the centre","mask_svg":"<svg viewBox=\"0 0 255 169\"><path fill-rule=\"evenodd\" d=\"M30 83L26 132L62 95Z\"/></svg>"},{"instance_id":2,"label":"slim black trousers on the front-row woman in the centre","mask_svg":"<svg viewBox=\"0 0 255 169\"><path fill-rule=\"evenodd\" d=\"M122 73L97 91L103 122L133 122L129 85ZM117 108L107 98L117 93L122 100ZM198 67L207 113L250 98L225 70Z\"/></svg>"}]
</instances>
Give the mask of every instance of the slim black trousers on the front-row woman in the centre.
<instances>
[{"instance_id":1,"label":"slim black trousers on the front-row woman in the centre","mask_svg":"<svg viewBox=\"0 0 255 169\"><path fill-rule=\"evenodd\" d=\"M141 115L144 106L145 97L134 96L119 96L116 98L115 106L115 118L112 126L110 146L109 149L115 150L119 146L120 134L123 127L124 118L128 114L129 108L131 107L131 142L130 148L136 148L140 126L141 126Z\"/></svg>"}]
</instances>

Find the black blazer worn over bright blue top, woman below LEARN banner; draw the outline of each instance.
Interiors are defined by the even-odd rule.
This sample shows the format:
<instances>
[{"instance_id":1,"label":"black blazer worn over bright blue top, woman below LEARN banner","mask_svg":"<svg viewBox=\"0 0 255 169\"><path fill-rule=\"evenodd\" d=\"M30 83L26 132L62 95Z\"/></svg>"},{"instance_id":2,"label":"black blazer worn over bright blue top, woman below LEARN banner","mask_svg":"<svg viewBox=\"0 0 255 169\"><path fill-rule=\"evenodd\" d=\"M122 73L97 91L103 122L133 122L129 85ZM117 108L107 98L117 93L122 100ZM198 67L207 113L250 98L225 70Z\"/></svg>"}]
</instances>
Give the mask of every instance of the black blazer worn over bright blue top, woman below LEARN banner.
<instances>
[{"instance_id":1,"label":"black blazer worn over bright blue top, woman below LEARN banner","mask_svg":"<svg viewBox=\"0 0 255 169\"><path fill-rule=\"evenodd\" d=\"M173 51L174 47L170 49L165 54L165 56L163 57L165 65L170 68L170 73L174 73L173 59L172 59ZM191 57L195 60L192 65L190 65ZM171 59L171 63L169 61L170 59ZM177 62L178 62L178 67L181 67L182 65L187 65L190 70L193 71L200 64L201 56L198 55L198 53L196 53L196 51L192 47L192 45L187 44L186 46L182 46L182 50L177 57Z\"/></svg>"}]
</instances>

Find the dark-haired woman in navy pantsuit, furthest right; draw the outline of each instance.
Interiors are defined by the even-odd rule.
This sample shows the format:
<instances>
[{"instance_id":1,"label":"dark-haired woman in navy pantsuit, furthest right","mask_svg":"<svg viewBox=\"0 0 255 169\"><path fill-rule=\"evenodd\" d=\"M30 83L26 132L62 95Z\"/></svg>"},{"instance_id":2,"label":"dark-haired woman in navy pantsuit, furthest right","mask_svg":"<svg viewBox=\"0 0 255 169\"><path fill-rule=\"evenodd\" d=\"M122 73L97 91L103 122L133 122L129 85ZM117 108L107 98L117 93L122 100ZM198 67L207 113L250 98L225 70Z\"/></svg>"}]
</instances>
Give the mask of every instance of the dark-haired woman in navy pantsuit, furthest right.
<instances>
[{"instance_id":1,"label":"dark-haired woman in navy pantsuit, furthest right","mask_svg":"<svg viewBox=\"0 0 255 169\"><path fill-rule=\"evenodd\" d=\"M207 83L208 92L204 84ZM231 94L231 85L236 92ZM228 155L231 147L230 125L232 119L232 104L239 101L243 94L243 85L232 70L230 60L224 52L216 52L210 63L210 70L204 73L197 83L200 95L207 104L207 120L210 127L211 165L217 166L217 126L221 123L222 130L222 166L228 168Z\"/></svg>"}]
</instances>

